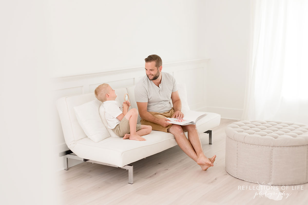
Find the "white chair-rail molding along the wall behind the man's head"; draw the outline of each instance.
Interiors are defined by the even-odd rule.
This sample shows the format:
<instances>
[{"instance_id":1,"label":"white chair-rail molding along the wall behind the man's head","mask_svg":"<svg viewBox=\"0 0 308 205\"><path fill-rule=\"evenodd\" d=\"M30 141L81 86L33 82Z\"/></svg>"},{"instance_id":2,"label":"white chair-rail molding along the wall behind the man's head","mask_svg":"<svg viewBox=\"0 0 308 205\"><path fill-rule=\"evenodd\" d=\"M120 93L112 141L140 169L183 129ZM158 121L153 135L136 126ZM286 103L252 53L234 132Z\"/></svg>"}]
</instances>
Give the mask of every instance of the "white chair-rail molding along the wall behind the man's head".
<instances>
[{"instance_id":1,"label":"white chair-rail molding along the wall behind the man's head","mask_svg":"<svg viewBox=\"0 0 308 205\"><path fill-rule=\"evenodd\" d=\"M176 61L172 63L166 63L163 64L163 68L170 68L170 67L176 67L184 64L199 64L199 63L206 63L209 61L209 58L206 59L194 59L194 60L185 60L185 61ZM115 75L115 74L121 74L121 73L128 73L128 72L134 72L134 71L140 71L144 69L143 67L125 67L125 68L115 68L112 70L104 71L104 72L95 72L95 73L85 73L85 74L77 74L77 75L67 75L67 76L61 76L61 77L54 77L52 78L53 83L62 83L62 82L68 82L68 81L74 81L74 80L80 80L80 79L87 79L87 78L95 78L105 75Z\"/></svg>"}]
</instances>

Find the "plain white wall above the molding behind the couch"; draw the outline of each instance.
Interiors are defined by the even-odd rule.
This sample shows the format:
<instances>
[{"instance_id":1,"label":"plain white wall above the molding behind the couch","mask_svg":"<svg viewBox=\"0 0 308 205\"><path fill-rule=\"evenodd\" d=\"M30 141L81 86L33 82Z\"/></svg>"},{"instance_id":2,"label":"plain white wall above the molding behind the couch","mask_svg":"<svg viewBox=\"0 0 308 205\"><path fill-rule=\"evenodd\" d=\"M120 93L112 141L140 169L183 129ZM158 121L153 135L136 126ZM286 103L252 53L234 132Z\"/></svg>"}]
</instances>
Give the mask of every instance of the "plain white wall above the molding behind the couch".
<instances>
[{"instance_id":1,"label":"plain white wall above the molding behind the couch","mask_svg":"<svg viewBox=\"0 0 308 205\"><path fill-rule=\"evenodd\" d=\"M202 2L202 1L201 1ZM50 1L52 76L204 58L200 1Z\"/></svg>"}]
</instances>

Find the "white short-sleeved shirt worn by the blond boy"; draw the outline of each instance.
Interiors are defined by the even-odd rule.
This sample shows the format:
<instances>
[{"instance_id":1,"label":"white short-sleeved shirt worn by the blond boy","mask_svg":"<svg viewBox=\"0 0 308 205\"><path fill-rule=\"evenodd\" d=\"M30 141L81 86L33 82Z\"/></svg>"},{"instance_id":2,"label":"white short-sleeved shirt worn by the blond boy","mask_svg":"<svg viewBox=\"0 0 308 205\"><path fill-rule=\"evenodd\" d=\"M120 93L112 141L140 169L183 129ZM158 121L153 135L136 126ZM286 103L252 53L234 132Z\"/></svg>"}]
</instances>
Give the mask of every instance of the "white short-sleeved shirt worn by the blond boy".
<instances>
[{"instance_id":1,"label":"white short-sleeved shirt worn by the blond boy","mask_svg":"<svg viewBox=\"0 0 308 205\"><path fill-rule=\"evenodd\" d=\"M118 101L107 100L104 103L105 117L108 123L108 128L113 129L117 124L120 123L118 117L122 114Z\"/></svg>"}]
</instances>

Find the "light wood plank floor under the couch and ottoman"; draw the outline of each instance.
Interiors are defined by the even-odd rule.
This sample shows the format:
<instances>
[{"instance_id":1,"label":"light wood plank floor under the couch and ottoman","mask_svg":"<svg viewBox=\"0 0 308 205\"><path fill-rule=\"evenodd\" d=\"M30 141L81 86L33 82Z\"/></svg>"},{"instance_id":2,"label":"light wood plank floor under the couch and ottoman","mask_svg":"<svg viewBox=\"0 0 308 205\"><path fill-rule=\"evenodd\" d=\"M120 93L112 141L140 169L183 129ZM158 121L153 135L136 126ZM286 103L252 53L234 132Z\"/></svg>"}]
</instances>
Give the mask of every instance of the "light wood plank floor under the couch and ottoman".
<instances>
[{"instance_id":1,"label":"light wood plank floor under the couch and ottoman","mask_svg":"<svg viewBox=\"0 0 308 205\"><path fill-rule=\"evenodd\" d=\"M134 184L128 184L128 171L84 162L59 172L59 191L65 205L82 204L307 204L308 184L304 190L285 190L282 200L256 197L257 190L238 190L238 186L257 184L239 180L225 170L225 127L235 120L221 119L213 129L213 144L208 134L200 136L205 155L217 155L214 167L202 171L179 148L132 163ZM278 186L283 192L281 186ZM295 188L295 186L294 186Z\"/></svg>"}]
</instances>

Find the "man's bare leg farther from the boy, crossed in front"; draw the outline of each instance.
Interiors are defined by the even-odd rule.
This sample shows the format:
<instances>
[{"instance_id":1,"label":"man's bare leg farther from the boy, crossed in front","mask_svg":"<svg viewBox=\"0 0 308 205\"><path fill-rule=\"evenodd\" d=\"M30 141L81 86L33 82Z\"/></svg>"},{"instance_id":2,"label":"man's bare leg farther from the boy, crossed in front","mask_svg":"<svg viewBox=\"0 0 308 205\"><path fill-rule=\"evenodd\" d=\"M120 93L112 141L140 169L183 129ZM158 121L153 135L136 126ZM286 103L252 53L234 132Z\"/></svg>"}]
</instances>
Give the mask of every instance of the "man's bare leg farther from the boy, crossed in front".
<instances>
[{"instance_id":1,"label":"man's bare leg farther from the boy, crossed in front","mask_svg":"<svg viewBox=\"0 0 308 205\"><path fill-rule=\"evenodd\" d=\"M188 141L191 143L191 145L193 146L193 149L195 150L197 154L197 161L196 161L197 164L213 166L213 162L211 162L210 159L215 161L216 155L214 155L211 158L207 158L204 155L200 136L199 136L198 130L196 129L196 125L186 125L186 126L183 126L183 129L188 131Z\"/></svg>"}]
</instances>

